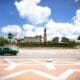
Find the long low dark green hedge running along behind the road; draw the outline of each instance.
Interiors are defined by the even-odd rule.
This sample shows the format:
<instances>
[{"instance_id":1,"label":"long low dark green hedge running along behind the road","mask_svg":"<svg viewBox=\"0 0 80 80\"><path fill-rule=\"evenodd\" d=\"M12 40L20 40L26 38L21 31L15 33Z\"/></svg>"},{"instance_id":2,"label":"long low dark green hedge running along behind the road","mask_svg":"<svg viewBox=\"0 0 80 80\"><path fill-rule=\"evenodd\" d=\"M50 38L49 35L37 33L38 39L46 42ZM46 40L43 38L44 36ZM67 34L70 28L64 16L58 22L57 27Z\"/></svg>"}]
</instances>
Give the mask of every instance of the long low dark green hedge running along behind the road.
<instances>
[{"instance_id":1,"label":"long low dark green hedge running along behind the road","mask_svg":"<svg viewBox=\"0 0 80 80\"><path fill-rule=\"evenodd\" d=\"M76 47L76 43L17 43L19 47Z\"/></svg>"}]
</instances>

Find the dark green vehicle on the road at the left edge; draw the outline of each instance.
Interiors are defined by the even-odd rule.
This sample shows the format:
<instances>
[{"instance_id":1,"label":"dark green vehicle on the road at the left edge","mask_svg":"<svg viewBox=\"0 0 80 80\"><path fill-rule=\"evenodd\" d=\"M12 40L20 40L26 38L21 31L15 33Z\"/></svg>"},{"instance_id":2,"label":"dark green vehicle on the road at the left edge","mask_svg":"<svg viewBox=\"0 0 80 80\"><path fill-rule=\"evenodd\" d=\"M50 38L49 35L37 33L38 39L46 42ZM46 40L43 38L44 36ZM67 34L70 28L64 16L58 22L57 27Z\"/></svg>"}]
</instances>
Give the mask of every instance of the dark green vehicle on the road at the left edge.
<instances>
[{"instance_id":1,"label":"dark green vehicle on the road at the left edge","mask_svg":"<svg viewBox=\"0 0 80 80\"><path fill-rule=\"evenodd\" d=\"M17 55L18 50L12 48L0 48L0 55Z\"/></svg>"}]
</instances>

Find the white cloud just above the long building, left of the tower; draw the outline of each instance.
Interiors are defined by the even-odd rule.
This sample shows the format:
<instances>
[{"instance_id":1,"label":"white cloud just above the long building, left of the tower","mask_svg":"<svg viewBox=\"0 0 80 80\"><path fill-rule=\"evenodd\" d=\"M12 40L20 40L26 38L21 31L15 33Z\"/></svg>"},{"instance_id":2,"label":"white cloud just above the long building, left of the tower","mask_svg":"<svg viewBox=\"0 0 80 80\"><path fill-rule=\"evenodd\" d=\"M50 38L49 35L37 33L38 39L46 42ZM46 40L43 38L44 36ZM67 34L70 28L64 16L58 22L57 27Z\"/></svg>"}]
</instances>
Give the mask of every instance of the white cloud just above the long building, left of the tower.
<instances>
[{"instance_id":1,"label":"white cloud just above the long building, left of the tower","mask_svg":"<svg viewBox=\"0 0 80 80\"><path fill-rule=\"evenodd\" d=\"M43 27L33 26L31 24L24 24L23 30L24 30L24 32L23 32L24 36L43 35L43 33L44 33Z\"/></svg>"}]
</instances>

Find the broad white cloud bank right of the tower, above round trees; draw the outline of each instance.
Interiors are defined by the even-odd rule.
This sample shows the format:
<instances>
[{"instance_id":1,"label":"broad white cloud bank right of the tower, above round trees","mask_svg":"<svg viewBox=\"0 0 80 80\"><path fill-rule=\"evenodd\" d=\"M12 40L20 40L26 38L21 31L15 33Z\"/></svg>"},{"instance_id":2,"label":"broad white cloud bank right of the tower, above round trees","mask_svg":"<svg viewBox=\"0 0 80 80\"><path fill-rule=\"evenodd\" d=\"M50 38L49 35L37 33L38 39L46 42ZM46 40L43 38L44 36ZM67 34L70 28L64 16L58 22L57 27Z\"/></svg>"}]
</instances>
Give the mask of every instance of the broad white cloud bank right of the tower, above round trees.
<instances>
[{"instance_id":1,"label":"broad white cloud bank right of the tower, above round trees","mask_svg":"<svg viewBox=\"0 0 80 80\"><path fill-rule=\"evenodd\" d=\"M50 20L46 24L48 40L53 37L59 36L60 38L65 36L71 39L76 39L80 34L80 26L74 25L72 23L56 23Z\"/></svg>"}]
</instances>

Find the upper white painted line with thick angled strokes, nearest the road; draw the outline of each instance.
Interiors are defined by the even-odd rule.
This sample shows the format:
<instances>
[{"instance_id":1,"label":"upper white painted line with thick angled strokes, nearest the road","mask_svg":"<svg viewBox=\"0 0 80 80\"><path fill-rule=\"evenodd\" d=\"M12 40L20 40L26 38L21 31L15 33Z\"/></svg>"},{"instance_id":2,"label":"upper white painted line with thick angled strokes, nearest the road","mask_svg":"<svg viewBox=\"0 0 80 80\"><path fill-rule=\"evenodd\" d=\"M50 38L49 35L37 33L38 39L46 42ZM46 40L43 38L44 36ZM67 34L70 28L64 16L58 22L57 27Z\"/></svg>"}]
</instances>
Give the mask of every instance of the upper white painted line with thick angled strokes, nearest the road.
<instances>
[{"instance_id":1,"label":"upper white painted line with thick angled strokes, nearest the road","mask_svg":"<svg viewBox=\"0 0 80 80\"><path fill-rule=\"evenodd\" d=\"M9 63L9 66L8 67L6 67L4 70L13 70L13 69L15 69L16 68L16 66L17 65L23 65L23 63L30 63L30 62L33 62L33 61L24 61L24 62L20 62L20 63L15 63L15 62L13 62L13 61L11 61L10 59L4 59L4 61L6 61L7 63ZM80 65L80 63L76 63L76 62L73 62L73 61L63 61L63 62L68 62L68 63L56 63L56 62L59 62L59 61L56 61L56 62L41 62L41 61L34 61L34 62L36 62L36 64L34 63L34 64L29 64L29 65L27 65L27 64L24 64L25 66L30 66L30 65L44 65L44 66L46 66L48 69L50 69L50 70L52 70L52 69L54 69L54 70L56 70L56 67L55 67L55 65L60 65L60 66L62 66L62 65Z\"/></svg>"}]
</instances>

